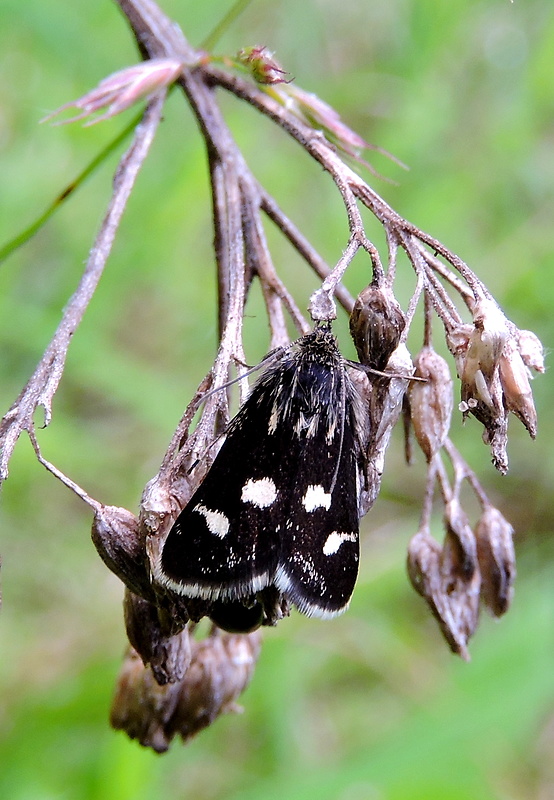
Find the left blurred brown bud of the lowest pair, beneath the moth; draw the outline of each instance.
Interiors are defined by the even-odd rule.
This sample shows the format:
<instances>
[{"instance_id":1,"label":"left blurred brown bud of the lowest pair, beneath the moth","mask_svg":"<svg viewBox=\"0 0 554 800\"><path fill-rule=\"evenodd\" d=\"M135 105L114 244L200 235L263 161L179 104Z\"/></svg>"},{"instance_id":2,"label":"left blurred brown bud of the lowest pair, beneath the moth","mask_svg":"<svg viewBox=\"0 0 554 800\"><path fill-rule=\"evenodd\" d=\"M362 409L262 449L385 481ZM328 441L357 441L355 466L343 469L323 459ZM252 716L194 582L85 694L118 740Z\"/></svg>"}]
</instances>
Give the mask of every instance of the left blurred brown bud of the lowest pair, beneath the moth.
<instances>
[{"instance_id":1,"label":"left blurred brown bud of the lowest pair, beneath the moth","mask_svg":"<svg viewBox=\"0 0 554 800\"><path fill-rule=\"evenodd\" d=\"M110 724L124 730L129 738L138 739L144 747L164 753L173 738L167 726L175 711L181 683L160 686L149 667L129 648L119 676L110 710Z\"/></svg>"}]
</instances>

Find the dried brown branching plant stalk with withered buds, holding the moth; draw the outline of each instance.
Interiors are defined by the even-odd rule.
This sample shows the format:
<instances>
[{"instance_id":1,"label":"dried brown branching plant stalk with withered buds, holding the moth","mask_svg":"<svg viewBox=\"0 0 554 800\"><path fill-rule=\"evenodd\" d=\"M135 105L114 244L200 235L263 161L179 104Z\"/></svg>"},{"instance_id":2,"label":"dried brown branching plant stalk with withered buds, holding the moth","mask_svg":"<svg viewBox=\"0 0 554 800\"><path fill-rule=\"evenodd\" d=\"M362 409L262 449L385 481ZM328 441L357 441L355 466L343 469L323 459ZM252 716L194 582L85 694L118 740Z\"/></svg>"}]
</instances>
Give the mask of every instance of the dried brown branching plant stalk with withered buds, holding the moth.
<instances>
[{"instance_id":1,"label":"dried brown branching plant stalk with withered buds, holding the moth","mask_svg":"<svg viewBox=\"0 0 554 800\"><path fill-rule=\"evenodd\" d=\"M149 565L176 514L204 477L214 457L209 446L229 421L227 393L212 390L226 384L230 372L237 370L243 397L247 391L242 330L253 283L258 281L263 293L272 348L289 342L287 318L299 334L311 327L275 269L264 217L322 280L310 299L311 319L334 319L336 303L351 315L351 332L360 362L366 367L365 373L353 374L353 380L367 404L369 420L361 513L371 508L379 492L394 424L403 410L411 420L427 461L428 479L420 528L409 546L408 571L450 647L464 658L468 657L467 643L476 628L481 601L495 615L503 614L510 604L515 576L512 529L448 437L453 381L449 365L433 349L432 321L442 325L454 358L461 382L460 410L482 423L493 463L502 473L508 467L509 413L535 436L529 369L542 372L544 366L537 338L518 330L506 318L468 265L394 211L345 162L347 156L365 163L360 154L370 145L351 131L334 109L289 82L290 76L264 48L245 48L236 59L226 59L221 65L209 54L193 50L153 0L117 2L144 61L107 78L68 105L82 112L79 119L104 108L107 111L100 118L111 116L144 96L148 102L132 144L119 163L113 194L79 286L34 374L0 425L0 480L7 478L15 444L26 431L40 463L93 509L92 536L98 553L125 585L125 624L132 645L119 678L112 723L161 751L176 734L187 739L218 714L234 708L259 651L257 632L241 637L214 629L206 639L192 638L191 623L177 599L152 583ZM155 137L167 87L173 83L190 104L206 143L220 343L213 366L179 421L135 516L90 497L47 461L36 440L33 415L41 406L45 425L51 422L52 400L71 337L106 265L135 178ZM281 127L333 181L349 226L343 255L334 267L325 263L250 171L224 121L216 88L235 95ZM383 226L386 268L366 234L362 207ZM360 250L368 259L368 286L354 300L341 285L341 278ZM394 296L399 251L406 254L416 276L415 291L405 310ZM425 335L422 349L412 359L408 334L420 307ZM419 380L412 380L414 377ZM201 406L199 422L191 431ZM453 480L448 477L445 458L451 464ZM482 508L473 529L462 506L463 484L471 487ZM442 545L430 532L435 487L444 507Z\"/></svg>"}]
</instances>

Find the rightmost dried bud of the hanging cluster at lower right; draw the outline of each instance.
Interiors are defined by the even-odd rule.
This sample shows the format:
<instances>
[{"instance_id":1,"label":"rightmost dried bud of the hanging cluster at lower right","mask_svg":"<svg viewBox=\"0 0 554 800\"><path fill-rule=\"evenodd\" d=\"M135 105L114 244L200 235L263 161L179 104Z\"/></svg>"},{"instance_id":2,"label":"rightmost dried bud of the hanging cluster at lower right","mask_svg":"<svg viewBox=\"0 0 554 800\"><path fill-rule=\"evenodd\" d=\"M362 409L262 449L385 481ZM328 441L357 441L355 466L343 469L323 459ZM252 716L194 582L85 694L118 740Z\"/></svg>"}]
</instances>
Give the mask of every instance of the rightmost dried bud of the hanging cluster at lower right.
<instances>
[{"instance_id":1,"label":"rightmost dried bud of the hanging cluster at lower right","mask_svg":"<svg viewBox=\"0 0 554 800\"><path fill-rule=\"evenodd\" d=\"M516 577L513 528L497 508L488 506L475 527L481 569L481 595L496 617L512 602Z\"/></svg>"}]
</instances>

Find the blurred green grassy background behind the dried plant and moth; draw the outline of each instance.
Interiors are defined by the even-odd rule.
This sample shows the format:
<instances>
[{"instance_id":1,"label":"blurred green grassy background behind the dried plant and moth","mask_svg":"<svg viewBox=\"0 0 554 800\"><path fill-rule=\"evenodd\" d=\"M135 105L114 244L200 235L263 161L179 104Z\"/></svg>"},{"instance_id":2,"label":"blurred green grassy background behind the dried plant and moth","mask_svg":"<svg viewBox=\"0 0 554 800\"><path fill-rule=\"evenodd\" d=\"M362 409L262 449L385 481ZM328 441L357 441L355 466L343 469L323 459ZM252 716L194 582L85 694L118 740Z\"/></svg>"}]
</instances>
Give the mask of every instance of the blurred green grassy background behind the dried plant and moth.
<instances>
[{"instance_id":1,"label":"blurred green grassy background behind the dried plant and moth","mask_svg":"<svg viewBox=\"0 0 554 800\"><path fill-rule=\"evenodd\" d=\"M164 0L199 45L228 0ZM2 0L0 244L43 210L125 123L38 120L137 60L109 0ZM459 253L508 315L554 341L554 8L551 0L253 2L217 51L264 44L299 86L410 166L373 163L372 185ZM267 120L222 106L284 209L335 261L346 242L330 181ZM134 112L131 112L134 113ZM128 118L130 118L128 116ZM0 267L0 405L28 379L74 290L110 192L115 157ZM216 342L203 144L170 98L107 272L74 337L40 432L47 458L105 503L136 510ZM378 241L378 228L369 224ZM271 229L301 307L316 286ZM404 269L404 267L403 267ZM367 282L356 262L347 283ZM404 269L400 295L413 277ZM254 362L261 304L247 321ZM344 322L342 323L344 331ZM348 348L343 339L345 350ZM483 615L461 662L408 586L422 459L402 462L364 520L351 610L294 615L267 631L244 713L155 756L112 732L125 645L122 589L96 556L91 515L36 463L23 437L0 507L3 610L0 796L7 800L547 800L554 797L554 464L549 376L534 383L539 438L511 425L511 470L495 474L480 429L453 436L517 531L519 578L500 623ZM436 534L441 535L440 520Z\"/></svg>"}]
</instances>

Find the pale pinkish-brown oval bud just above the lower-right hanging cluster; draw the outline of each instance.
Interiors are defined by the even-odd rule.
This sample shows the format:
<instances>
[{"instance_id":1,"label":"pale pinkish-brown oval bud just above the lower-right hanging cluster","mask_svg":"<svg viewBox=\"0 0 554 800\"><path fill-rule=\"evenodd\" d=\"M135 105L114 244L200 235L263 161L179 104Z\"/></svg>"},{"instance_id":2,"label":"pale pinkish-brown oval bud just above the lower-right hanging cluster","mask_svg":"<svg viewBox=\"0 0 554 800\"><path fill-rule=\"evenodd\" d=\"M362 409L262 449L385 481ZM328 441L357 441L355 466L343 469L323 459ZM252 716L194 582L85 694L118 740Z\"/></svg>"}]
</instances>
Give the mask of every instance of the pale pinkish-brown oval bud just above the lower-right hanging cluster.
<instances>
[{"instance_id":1,"label":"pale pinkish-brown oval bud just above the lower-right hanging cluster","mask_svg":"<svg viewBox=\"0 0 554 800\"><path fill-rule=\"evenodd\" d=\"M448 364L432 347L424 347L415 359L415 375L425 382L410 385L410 410L419 446L431 461L443 446L452 417L452 376Z\"/></svg>"}]
</instances>

